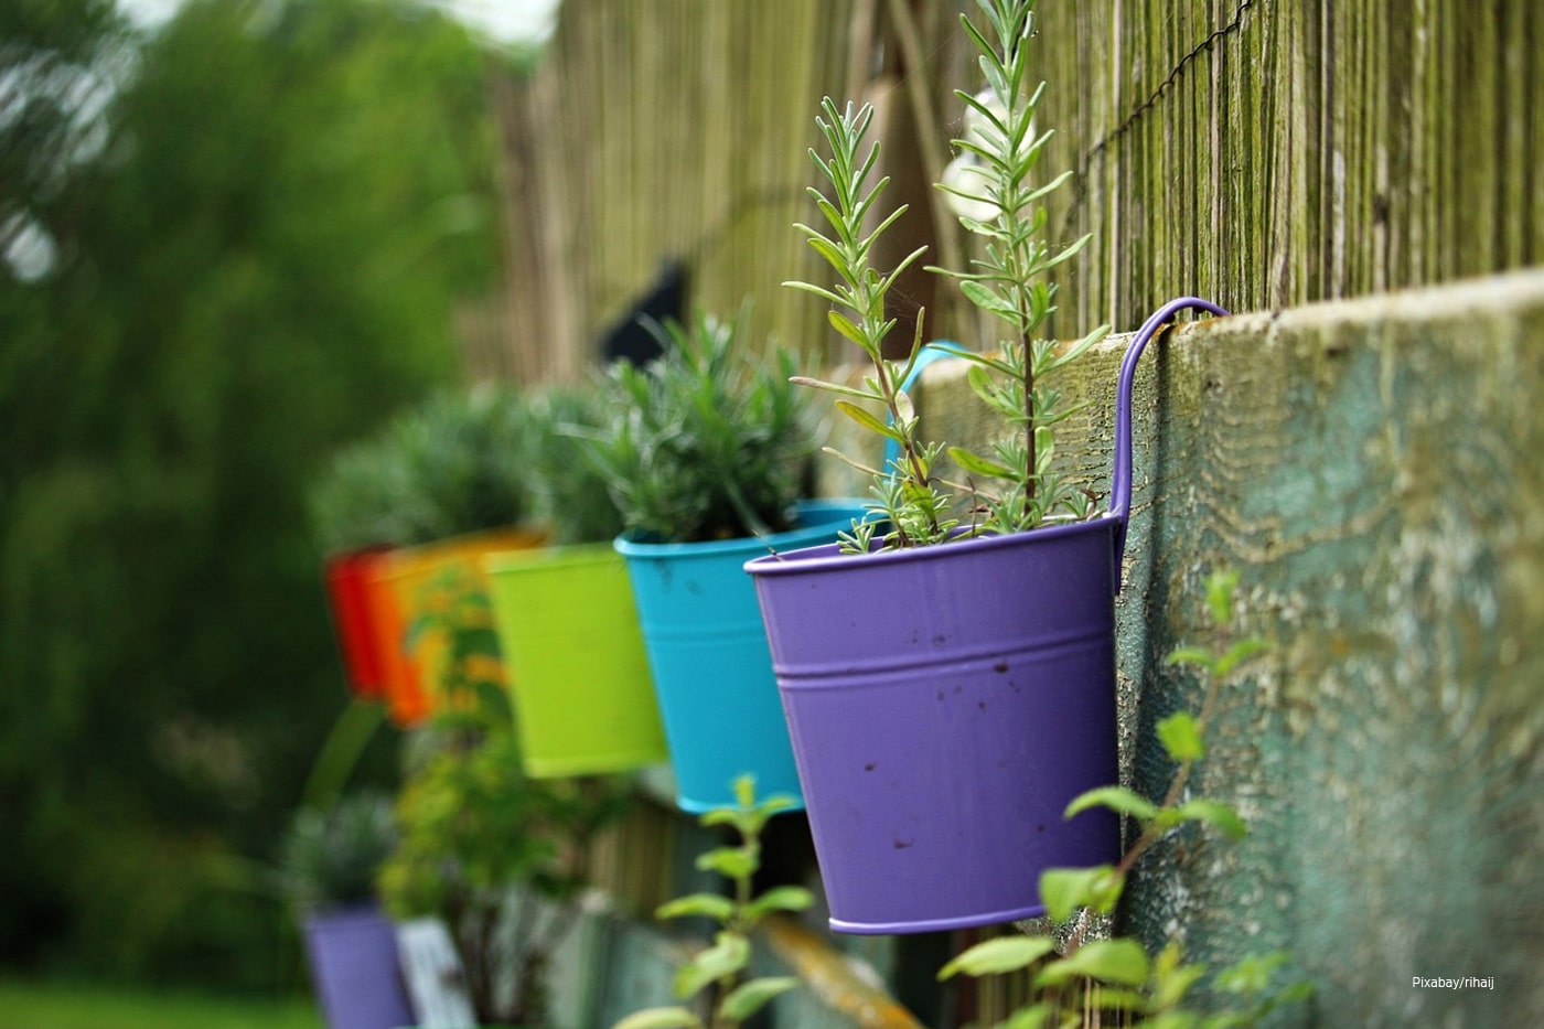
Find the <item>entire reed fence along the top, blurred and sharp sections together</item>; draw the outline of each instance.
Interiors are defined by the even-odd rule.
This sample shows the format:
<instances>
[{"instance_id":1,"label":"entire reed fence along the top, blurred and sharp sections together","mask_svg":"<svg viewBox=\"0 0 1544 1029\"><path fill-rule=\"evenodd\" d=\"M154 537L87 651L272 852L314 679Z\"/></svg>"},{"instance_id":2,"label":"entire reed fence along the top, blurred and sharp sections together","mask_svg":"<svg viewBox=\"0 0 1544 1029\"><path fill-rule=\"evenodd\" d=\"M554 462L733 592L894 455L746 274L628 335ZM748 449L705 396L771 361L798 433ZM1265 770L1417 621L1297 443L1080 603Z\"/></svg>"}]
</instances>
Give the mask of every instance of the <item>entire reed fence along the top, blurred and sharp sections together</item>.
<instances>
[{"instance_id":1,"label":"entire reed fence along the top, blurred and sharp sections together","mask_svg":"<svg viewBox=\"0 0 1544 1029\"><path fill-rule=\"evenodd\" d=\"M503 295L465 318L477 374L570 379L681 263L690 303L851 357L792 230L815 218L821 96L872 100L903 244L959 264L928 188L976 73L968 0L587 0L527 80L496 74ZM1544 261L1544 6L1536 0L1045 0L1036 68L1070 269L1062 331L1133 328L1177 294L1234 311ZM818 280L817 280L818 281ZM953 286L899 314L974 338Z\"/></svg>"}]
</instances>

